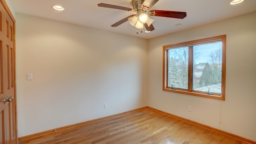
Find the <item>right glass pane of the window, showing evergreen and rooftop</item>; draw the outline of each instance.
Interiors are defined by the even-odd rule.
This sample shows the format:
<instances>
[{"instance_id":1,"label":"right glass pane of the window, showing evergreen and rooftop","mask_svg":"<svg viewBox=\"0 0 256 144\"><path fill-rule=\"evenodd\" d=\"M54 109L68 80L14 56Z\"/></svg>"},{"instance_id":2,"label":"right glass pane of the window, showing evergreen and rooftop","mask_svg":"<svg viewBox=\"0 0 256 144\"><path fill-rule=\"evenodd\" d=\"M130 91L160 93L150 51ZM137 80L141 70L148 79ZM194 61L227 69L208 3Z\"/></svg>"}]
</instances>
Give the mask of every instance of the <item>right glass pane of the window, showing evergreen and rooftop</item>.
<instances>
[{"instance_id":1,"label":"right glass pane of the window, showing evergreen and rooftop","mask_svg":"<svg viewBox=\"0 0 256 144\"><path fill-rule=\"evenodd\" d=\"M222 42L193 47L192 89L221 93Z\"/></svg>"}]
</instances>

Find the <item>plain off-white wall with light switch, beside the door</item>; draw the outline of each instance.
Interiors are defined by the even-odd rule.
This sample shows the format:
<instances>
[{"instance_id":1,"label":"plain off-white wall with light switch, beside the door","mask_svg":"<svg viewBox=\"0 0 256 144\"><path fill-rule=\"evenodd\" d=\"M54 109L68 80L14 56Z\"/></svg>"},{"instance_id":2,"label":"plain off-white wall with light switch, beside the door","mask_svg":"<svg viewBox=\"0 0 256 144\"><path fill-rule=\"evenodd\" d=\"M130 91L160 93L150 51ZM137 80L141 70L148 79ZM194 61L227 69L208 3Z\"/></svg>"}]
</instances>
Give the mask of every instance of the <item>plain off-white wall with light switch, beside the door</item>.
<instances>
[{"instance_id":1,"label":"plain off-white wall with light switch, beside the door","mask_svg":"<svg viewBox=\"0 0 256 144\"><path fill-rule=\"evenodd\" d=\"M147 58L148 40L16 13L18 137L146 106Z\"/></svg>"}]
</instances>

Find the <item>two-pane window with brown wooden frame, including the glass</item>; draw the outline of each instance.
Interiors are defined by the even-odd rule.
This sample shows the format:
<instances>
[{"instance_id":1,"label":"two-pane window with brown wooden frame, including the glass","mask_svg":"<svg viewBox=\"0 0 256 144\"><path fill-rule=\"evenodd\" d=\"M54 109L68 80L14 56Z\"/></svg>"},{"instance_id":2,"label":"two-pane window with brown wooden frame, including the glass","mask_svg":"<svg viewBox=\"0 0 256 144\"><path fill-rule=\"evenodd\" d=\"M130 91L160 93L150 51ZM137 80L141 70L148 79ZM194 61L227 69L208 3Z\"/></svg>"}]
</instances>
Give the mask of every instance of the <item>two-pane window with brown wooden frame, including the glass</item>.
<instances>
[{"instance_id":1,"label":"two-pane window with brown wooden frame, including the glass","mask_svg":"<svg viewBox=\"0 0 256 144\"><path fill-rule=\"evenodd\" d=\"M225 100L226 35L163 46L163 90Z\"/></svg>"}]
</instances>

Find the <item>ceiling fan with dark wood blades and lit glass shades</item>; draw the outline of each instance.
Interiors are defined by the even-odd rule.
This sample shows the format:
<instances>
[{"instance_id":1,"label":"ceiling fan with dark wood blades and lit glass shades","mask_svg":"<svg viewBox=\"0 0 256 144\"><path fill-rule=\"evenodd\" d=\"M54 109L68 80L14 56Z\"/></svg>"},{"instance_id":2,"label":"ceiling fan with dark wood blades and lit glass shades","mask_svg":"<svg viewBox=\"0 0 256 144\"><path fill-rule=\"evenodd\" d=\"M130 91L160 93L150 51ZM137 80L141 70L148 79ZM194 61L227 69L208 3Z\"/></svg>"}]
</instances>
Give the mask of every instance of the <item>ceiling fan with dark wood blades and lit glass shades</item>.
<instances>
[{"instance_id":1,"label":"ceiling fan with dark wood blades and lit glass shades","mask_svg":"<svg viewBox=\"0 0 256 144\"><path fill-rule=\"evenodd\" d=\"M132 14L127 16L126 18L112 24L112 27L119 26L120 24L128 21L132 26L136 28L142 29L146 28L146 32L151 32L155 28L152 25L154 19L150 18L149 16L162 16L168 18L185 18L186 12L175 12L175 11L166 11L166 10L150 10L154 4L156 4L158 0L132 0L132 7L133 8L126 8L123 6L116 6L112 4L104 4L100 3L98 6L105 7L105 8L114 8L119 10L127 10L130 12L136 12L137 14Z\"/></svg>"}]
</instances>

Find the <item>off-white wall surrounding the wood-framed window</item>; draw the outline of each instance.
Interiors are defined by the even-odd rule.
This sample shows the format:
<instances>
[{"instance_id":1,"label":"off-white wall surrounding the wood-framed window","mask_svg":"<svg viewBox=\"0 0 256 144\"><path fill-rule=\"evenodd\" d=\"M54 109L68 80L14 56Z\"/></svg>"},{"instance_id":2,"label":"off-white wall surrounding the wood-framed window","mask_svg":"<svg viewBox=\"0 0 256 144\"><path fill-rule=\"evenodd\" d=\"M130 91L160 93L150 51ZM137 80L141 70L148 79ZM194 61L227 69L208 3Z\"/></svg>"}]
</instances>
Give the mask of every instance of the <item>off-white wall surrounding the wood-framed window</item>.
<instances>
[{"instance_id":1,"label":"off-white wall surrounding the wood-framed window","mask_svg":"<svg viewBox=\"0 0 256 144\"><path fill-rule=\"evenodd\" d=\"M227 35L225 101L162 91L162 46L223 34ZM256 12L151 39L148 106L256 140L255 54Z\"/></svg>"}]
</instances>

